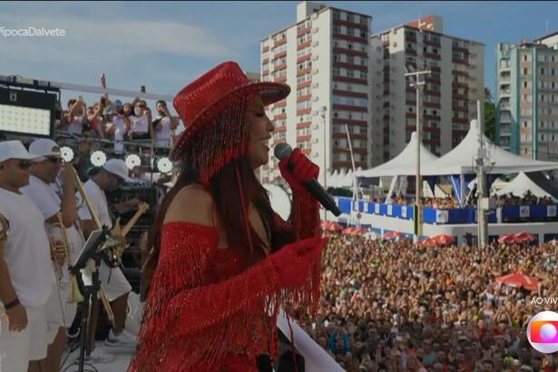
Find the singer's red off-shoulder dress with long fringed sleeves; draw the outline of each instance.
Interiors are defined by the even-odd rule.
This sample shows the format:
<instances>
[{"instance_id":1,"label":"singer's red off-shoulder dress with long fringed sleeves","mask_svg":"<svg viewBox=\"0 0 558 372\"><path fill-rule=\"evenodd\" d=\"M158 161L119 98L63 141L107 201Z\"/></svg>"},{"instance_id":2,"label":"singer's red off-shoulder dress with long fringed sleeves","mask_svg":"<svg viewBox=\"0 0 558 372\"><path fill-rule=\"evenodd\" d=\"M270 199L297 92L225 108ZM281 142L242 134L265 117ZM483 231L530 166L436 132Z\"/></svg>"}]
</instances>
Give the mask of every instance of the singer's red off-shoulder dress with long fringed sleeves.
<instances>
[{"instance_id":1,"label":"singer's red off-shoulder dress with long fringed sleeves","mask_svg":"<svg viewBox=\"0 0 558 372\"><path fill-rule=\"evenodd\" d=\"M272 237L288 234L296 241L319 234L318 203L293 199L291 223L276 215ZM279 305L316 313L319 262L303 287L285 289L269 257L242 269L234 250L218 250L213 227L169 222L161 241L129 371L257 371L259 354L277 357Z\"/></svg>"}]
</instances>

